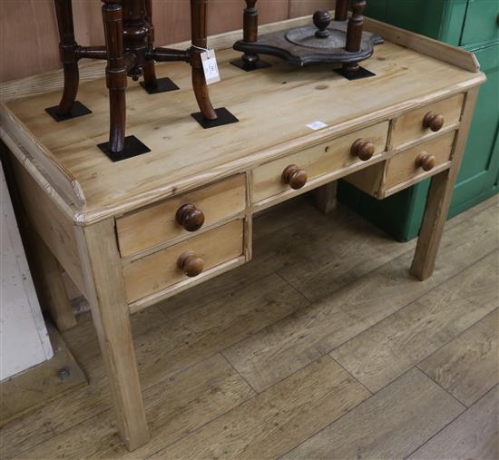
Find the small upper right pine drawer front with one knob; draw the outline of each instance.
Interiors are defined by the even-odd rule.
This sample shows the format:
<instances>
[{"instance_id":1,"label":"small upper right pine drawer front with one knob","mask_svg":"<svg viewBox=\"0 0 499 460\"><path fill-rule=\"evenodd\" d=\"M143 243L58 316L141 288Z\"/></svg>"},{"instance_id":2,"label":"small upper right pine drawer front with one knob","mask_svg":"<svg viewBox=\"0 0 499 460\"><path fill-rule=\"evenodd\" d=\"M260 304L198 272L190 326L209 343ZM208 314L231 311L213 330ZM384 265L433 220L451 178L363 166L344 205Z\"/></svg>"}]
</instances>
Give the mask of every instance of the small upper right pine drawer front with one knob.
<instances>
[{"instance_id":1,"label":"small upper right pine drawer front with one knob","mask_svg":"<svg viewBox=\"0 0 499 460\"><path fill-rule=\"evenodd\" d=\"M439 124L435 118L429 116L427 119L431 123L433 130L425 124L426 114L428 113L443 117L443 124L440 129L444 129L445 126L451 126L456 122L459 122L461 120L464 100L465 94L457 94L450 99L432 103L401 115L396 120L394 131L392 132L392 146L396 148L436 132L434 130L438 128Z\"/></svg>"}]
</instances>

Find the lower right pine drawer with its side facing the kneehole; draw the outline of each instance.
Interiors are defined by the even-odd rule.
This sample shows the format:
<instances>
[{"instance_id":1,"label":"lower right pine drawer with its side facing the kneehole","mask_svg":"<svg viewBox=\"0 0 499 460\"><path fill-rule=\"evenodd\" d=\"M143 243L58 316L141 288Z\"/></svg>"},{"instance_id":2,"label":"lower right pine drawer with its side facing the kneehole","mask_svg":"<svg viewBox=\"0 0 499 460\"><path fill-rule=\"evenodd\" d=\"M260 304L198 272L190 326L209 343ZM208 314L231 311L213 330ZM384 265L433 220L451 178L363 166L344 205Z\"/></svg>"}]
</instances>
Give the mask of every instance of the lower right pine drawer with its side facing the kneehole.
<instances>
[{"instance_id":1,"label":"lower right pine drawer with its side facing the kneehole","mask_svg":"<svg viewBox=\"0 0 499 460\"><path fill-rule=\"evenodd\" d=\"M387 161L357 171L345 178L358 189L383 199L450 166L455 131L397 153ZM425 158L426 161L421 161ZM423 168L422 162L425 162ZM431 166L431 168L430 168Z\"/></svg>"}]
</instances>

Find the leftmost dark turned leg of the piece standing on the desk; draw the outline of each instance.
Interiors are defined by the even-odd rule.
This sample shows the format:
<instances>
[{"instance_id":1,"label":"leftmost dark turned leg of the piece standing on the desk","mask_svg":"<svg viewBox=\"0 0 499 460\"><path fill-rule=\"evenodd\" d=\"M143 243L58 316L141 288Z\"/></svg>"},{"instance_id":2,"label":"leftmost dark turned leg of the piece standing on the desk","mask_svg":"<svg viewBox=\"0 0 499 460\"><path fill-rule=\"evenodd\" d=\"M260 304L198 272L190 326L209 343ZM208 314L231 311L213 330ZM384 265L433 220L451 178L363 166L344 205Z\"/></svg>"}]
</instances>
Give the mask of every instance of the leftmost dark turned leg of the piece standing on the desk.
<instances>
[{"instance_id":1,"label":"leftmost dark turned leg of the piece standing on the desk","mask_svg":"<svg viewBox=\"0 0 499 460\"><path fill-rule=\"evenodd\" d=\"M76 58L76 42L74 41L72 0L54 0L57 24L59 27L61 59L64 69L64 92L57 107L58 115L71 112L78 93L80 80L78 60Z\"/></svg>"}]
</instances>

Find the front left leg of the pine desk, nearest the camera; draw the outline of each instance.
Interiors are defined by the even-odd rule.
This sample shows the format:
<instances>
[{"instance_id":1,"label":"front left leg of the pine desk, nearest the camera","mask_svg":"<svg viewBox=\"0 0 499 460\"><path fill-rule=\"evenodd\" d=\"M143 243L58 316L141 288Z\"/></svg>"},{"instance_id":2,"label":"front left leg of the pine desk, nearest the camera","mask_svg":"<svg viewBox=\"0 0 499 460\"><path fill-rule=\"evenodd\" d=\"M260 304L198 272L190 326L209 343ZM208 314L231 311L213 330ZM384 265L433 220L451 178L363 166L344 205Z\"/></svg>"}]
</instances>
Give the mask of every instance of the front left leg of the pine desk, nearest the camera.
<instances>
[{"instance_id":1,"label":"front left leg of the pine desk, nearest the camera","mask_svg":"<svg viewBox=\"0 0 499 460\"><path fill-rule=\"evenodd\" d=\"M122 279L122 264L114 220L108 219L78 233L88 285L93 324L117 413L123 443L134 450L149 441L141 385L130 328L130 311ZM83 239L81 238L83 237Z\"/></svg>"}]
</instances>

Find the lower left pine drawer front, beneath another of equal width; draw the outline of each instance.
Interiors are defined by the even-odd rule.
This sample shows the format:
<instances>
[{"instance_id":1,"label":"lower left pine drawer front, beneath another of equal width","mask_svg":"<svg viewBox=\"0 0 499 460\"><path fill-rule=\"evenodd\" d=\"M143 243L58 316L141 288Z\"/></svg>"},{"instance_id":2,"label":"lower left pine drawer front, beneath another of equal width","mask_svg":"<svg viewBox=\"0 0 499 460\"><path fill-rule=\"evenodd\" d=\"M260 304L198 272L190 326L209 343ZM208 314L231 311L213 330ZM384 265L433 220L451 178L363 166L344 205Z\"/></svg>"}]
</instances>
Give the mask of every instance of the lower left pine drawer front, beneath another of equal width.
<instances>
[{"instance_id":1,"label":"lower left pine drawer front, beneath another of equal width","mask_svg":"<svg viewBox=\"0 0 499 460\"><path fill-rule=\"evenodd\" d=\"M123 279L128 301L142 299L189 279L178 266L179 258L186 252L192 252L196 258L202 259L203 272L239 258L243 253L243 236L243 220L235 220L191 240L127 263L123 266Z\"/></svg>"}]
</instances>

